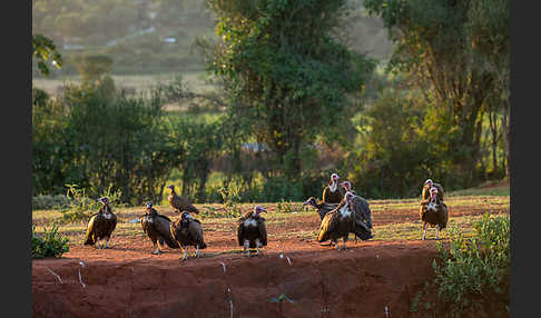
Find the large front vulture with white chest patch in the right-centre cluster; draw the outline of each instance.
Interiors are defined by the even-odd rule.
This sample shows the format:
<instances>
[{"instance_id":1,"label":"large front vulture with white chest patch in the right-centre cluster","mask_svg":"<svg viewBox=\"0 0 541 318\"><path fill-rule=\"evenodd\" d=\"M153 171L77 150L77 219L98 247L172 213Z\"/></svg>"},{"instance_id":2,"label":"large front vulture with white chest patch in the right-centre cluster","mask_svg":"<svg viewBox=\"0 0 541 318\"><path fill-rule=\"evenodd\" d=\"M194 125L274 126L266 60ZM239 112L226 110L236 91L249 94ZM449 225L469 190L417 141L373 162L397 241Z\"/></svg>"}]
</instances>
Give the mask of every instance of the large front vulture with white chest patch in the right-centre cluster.
<instances>
[{"instance_id":1,"label":"large front vulture with white chest patch in the right-centre cluster","mask_svg":"<svg viewBox=\"0 0 541 318\"><path fill-rule=\"evenodd\" d=\"M346 249L346 241L350 232L354 232L355 230L355 218L352 211L352 205L353 193L347 192L340 205L325 215L319 226L319 232L317 233L318 242L332 240L336 249L340 250L337 240L342 238L344 241L343 249Z\"/></svg>"}]
</instances>

